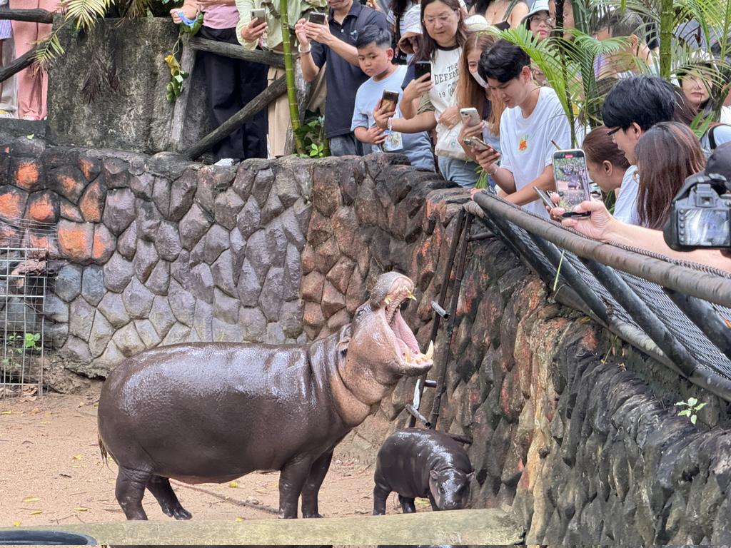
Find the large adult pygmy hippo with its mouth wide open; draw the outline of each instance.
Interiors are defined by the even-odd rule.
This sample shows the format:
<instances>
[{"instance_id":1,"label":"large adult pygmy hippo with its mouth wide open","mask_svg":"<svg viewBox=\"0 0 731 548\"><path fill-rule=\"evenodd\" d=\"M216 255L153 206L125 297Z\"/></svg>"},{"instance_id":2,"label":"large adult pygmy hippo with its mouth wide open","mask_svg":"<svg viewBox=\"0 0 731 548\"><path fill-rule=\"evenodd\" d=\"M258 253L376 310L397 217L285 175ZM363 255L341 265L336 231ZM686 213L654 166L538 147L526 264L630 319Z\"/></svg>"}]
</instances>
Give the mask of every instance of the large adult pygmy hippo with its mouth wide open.
<instances>
[{"instance_id":1,"label":"large adult pygmy hippo with its mouth wide open","mask_svg":"<svg viewBox=\"0 0 731 548\"><path fill-rule=\"evenodd\" d=\"M279 517L319 517L317 493L333 449L402 376L432 365L401 317L414 283L383 274L351 324L311 345L195 343L122 362L102 388L99 446L119 465L115 495L146 520L145 487L162 511L183 509L169 478L230 482L281 471Z\"/></svg>"}]
</instances>

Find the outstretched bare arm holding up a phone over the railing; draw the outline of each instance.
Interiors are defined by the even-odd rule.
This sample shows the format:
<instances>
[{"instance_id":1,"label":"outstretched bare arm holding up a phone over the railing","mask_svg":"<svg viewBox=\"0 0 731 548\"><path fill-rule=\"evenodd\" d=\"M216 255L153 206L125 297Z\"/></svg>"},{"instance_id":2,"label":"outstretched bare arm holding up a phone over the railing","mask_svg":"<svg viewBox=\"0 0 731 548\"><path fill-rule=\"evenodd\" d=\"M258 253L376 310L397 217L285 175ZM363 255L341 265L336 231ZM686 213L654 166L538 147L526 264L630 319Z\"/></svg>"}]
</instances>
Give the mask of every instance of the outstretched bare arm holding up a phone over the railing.
<instances>
[{"instance_id":1,"label":"outstretched bare arm holding up a phone over the railing","mask_svg":"<svg viewBox=\"0 0 731 548\"><path fill-rule=\"evenodd\" d=\"M591 217L574 217L561 220L561 225L570 227L580 234L605 243L619 243L623 246L643 248L662 254L670 259L697 262L700 265L715 267L731 272L731 259L715 249L698 249L695 251L675 251L667 246L661 230L637 227L618 221L607 210L604 202L599 200L581 202L574 208L577 213L591 211ZM553 208L551 216L560 218L563 208Z\"/></svg>"}]
</instances>

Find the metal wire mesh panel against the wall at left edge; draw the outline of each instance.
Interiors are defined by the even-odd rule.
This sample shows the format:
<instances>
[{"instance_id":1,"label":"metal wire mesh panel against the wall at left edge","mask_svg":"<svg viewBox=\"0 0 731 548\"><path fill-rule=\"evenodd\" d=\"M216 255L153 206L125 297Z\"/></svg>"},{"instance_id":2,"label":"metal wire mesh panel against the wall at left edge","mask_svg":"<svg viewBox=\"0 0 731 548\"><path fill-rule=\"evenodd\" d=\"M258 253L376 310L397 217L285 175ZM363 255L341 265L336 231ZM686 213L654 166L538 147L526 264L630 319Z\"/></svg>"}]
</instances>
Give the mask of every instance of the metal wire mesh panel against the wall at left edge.
<instances>
[{"instance_id":1,"label":"metal wire mesh panel against the wall at left edge","mask_svg":"<svg viewBox=\"0 0 731 548\"><path fill-rule=\"evenodd\" d=\"M42 395L47 259L55 237L53 225L0 218L0 397Z\"/></svg>"}]
</instances>

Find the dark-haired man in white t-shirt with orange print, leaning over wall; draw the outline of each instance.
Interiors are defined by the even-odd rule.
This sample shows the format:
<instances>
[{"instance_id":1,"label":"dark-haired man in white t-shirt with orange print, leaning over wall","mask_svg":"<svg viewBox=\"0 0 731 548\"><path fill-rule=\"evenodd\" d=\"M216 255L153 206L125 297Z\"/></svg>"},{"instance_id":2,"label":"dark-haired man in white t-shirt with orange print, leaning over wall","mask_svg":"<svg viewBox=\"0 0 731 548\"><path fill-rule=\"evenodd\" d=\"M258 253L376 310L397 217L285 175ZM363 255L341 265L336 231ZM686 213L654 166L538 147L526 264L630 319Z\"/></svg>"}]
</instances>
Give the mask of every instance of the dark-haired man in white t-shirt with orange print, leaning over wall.
<instances>
[{"instance_id":1,"label":"dark-haired man in white t-shirt with orange print, leaning over wall","mask_svg":"<svg viewBox=\"0 0 731 548\"><path fill-rule=\"evenodd\" d=\"M482 53L477 72L507 107L500 119L501 153L482 151L477 162L507 194L505 199L548 217L533 187L555 190L553 152L571 148L571 126L561 102L553 89L533 81L531 59L507 40Z\"/></svg>"}]
</instances>

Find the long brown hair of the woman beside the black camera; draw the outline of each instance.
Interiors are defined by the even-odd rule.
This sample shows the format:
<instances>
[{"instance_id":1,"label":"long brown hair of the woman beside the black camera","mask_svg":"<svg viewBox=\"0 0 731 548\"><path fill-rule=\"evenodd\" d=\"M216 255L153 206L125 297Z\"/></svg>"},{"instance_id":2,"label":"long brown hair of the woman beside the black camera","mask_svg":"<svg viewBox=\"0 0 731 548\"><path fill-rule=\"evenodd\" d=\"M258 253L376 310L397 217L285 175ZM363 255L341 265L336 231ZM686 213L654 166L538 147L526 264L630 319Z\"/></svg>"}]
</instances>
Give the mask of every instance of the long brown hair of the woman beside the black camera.
<instances>
[{"instance_id":1,"label":"long brown hair of the woman beside the black camera","mask_svg":"<svg viewBox=\"0 0 731 548\"><path fill-rule=\"evenodd\" d=\"M670 204L686 178L705 167L705 154L690 128L683 123L656 123L635 148L640 191L637 213L643 227L662 230Z\"/></svg>"}]
</instances>

